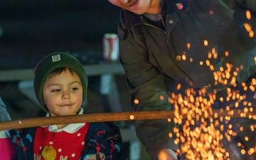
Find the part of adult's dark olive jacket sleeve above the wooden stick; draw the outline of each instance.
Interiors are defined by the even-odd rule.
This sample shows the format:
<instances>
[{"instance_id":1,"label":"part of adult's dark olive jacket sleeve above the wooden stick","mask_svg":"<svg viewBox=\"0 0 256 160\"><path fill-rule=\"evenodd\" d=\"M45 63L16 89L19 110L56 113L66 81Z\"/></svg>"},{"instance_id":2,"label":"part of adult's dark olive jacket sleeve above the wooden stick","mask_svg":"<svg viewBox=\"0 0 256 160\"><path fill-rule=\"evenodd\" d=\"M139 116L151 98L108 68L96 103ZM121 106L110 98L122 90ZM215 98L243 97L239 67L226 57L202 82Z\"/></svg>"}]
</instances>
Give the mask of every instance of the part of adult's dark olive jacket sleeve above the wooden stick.
<instances>
[{"instance_id":1,"label":"part of adult's dark olive jacket sleeve above the wooden stick","mask_svg":"<svg viewBox=\"0 0 256 160\"><path fill-rule=\"evenodd\" d=\"M127 36L119 41L120 60L127 75L127 85L132 107L141 110L170 110L168 95L164 85L164 75L159 68L149 62L147 47L140 28L122 31ZM134 102L134 100L137 100Z\"/></svg>"}]
</instances>

